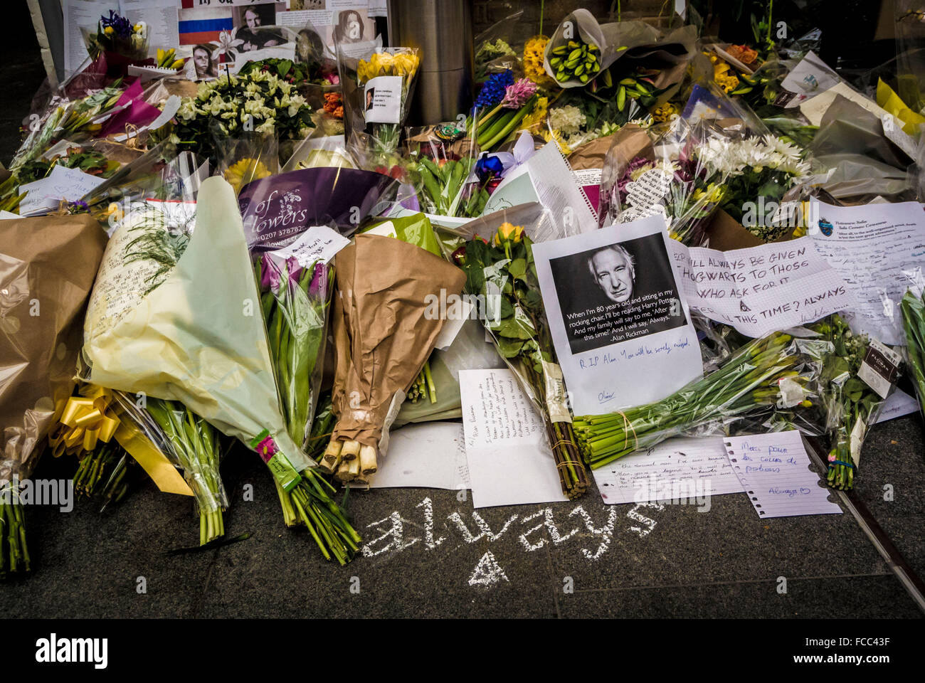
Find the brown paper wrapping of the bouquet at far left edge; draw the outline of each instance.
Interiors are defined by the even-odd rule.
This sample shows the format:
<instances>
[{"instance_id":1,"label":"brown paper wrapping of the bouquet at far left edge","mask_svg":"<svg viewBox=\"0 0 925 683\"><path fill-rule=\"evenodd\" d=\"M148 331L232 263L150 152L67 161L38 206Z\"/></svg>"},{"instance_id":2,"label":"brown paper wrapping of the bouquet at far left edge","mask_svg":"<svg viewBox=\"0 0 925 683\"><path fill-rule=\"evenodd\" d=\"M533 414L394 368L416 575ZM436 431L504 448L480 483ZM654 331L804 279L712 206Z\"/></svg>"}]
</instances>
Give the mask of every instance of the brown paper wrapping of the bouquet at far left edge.
<instances>
[{"instance_id":1,"label":"brown paper wrapping of the bouquet at far left edge","mask_svg":"<svg viewBox=\"0 0 925 683\"><path fill-rule=\"evenodd\" d=\"M31 475L74 389L105 244L86 215L0 220L0 479Z\"/></svg>"}]
</instances>

